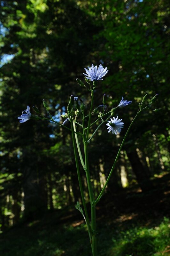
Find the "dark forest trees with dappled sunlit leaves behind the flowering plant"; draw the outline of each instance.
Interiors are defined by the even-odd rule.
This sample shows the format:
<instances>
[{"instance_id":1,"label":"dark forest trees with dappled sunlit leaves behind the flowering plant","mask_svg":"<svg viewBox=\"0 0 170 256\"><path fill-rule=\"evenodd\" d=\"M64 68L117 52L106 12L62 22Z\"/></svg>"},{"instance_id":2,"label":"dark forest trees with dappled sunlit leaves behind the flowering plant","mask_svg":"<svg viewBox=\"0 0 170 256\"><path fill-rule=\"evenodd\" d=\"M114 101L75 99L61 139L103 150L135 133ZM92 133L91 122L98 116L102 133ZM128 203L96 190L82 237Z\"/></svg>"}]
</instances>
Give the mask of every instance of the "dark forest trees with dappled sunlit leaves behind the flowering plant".
<instances>
[{"instance_id":1,"label":"dark forest trees with dappled sunlit leaves behind the flowering plant","mask_svg":"<svg viewBox=\"0 0 170 256\"><path fill-rule=\"evenodd\" d=\"M120 136L107 133L103 126L91 143L90 169L95 193L97 195L107 178L118 145L142 97L148 93L151 99L158 93L153 109L161 110L147 110L138 118L107 187L112 204L108 206L105 202L107 194L101 204L105 204L108 218L112 219L115 212L119 215L120 204L131 207L125 198L129 200L132 192L143 195L146 204L148 195L159 198L161 194L159 207L157 210L152 208L151 215L158 217L159 224L164 216L167 217L165 198L168 194L170 148L168 4L167 0L0 1L2 237L21 223L34 224L35 220L44 218L44 214L47 214L45 220L49 221L57 214L67 216L69 209L73 209L76 201L80 200L70 132L45 120L29 120L20 124L17 117L27 105L31 113L35 105L48 117L43 108L42 100L45 99L50 114L62 124L64 119L61 115L66 112L71 94L81 97L88 105L90 95L76 83L76 78L84 81L84 68L91 64L102 64L109 70L104 80L97 84L96 107L102 104L104 93L108 109L116 107L122 96L132 100L132 104L119 111L119 118L125 123ZM83 171L82 180L86 190ZM158 180L164 181L162 187ZM160 189L164 189L164 192L160 193ZM88 202L87 193L85 195ZM120 195L124 195L124 199L121 198L123 201L118 200L116 204L116 198ZM161 200L166 207L160 206ZM146 207L140 209L144 219ZM134 212L135 208L129 213L131 218ZM53 217L48 215L52 213L55 214ZM103 221L107 222L106 219ZM80 224L83 225L82 222ZM22 229L22 225L19 228ZM21 230L19 233L22 233ZM21 243L23 241L24 238ZM5 253L3 255L33 255L31 252ZM55 253L48 255L72 255L67 250L65 254Z\"/></svg>"}]
</instances>

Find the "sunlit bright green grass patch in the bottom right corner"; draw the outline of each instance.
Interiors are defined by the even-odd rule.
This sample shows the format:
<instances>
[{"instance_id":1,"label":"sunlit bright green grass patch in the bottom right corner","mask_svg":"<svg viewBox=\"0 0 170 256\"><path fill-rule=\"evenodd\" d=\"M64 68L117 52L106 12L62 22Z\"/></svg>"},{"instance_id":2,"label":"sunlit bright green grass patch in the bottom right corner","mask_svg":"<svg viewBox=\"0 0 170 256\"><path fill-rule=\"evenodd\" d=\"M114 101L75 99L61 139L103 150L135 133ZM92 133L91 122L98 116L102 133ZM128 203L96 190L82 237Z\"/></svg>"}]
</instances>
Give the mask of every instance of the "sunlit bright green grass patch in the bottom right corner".
<instances>
[{"instance_id":1,"label":"sunlit bright green grass patch in the bottom right corner","mask_svg":"<svg viewBox=\"0 0 170 256\"><path fill-rule=\"evenodd\" d=\"M128 231L120 232L118 237L112 239L114 246L108 255L112 256L156 256L161 255L169 243L169 219L157 227L134 227Z\"/></svg>"}]
</instances>

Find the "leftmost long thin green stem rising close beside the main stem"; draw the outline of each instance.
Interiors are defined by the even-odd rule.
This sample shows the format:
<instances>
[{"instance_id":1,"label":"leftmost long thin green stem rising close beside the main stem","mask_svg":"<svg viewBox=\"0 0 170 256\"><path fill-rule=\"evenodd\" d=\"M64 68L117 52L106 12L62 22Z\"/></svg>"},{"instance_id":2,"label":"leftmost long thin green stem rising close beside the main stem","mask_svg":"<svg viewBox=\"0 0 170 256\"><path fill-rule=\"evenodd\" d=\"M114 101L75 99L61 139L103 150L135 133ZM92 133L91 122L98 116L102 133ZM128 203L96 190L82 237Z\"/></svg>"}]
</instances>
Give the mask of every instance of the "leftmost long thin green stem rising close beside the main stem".
<instances>
[{"instance_id":1,"label":"leftmost long thin green stem rising close beside the main stem","mask_svg":"<svg viewBox=\"0 0 170 256\"><path fill-rule=\"evenodd\" d=\"M79 162L78 162L78 157L77 157L77 152L76 152L76 141L75 141L75 136L74 136L75 132L74 132L74 128L73 128L73 121L71 121L71 128L72 128L73 149L74 149L74 156L75 156L75 163L76 163L76 168L77 168L77 176L78 176L78 181L79 181L81 199L82 199L82 203L83 203L83 207L84 207L84 212L85 212L85 216L86 216L86 221L87 221L87 225L88 225L89 238L90 238L90 241L91 241L92 240L92 236L91 236L91 231L90 231L90 221L89 221L89 215L88 215L88 212L87 212L86 202L85 202L85 199L84 199L82 182L81 182Z\"/></svg>"}]
</instances>

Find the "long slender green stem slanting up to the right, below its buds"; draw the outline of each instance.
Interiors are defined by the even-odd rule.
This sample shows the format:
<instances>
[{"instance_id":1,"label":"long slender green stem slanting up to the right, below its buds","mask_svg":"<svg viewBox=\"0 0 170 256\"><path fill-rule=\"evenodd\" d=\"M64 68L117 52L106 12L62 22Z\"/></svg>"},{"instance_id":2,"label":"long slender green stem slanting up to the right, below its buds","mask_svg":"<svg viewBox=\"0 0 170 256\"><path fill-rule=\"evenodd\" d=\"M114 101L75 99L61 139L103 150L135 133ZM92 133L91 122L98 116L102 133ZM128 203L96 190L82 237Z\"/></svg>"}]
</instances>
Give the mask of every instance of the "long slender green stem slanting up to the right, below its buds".
<instances>
[{"instance_id":1,"label":"long slender green stem slanting up to the right, below its buds","mask_svg":"<svg viewBox=\"0 0 170 256\"><path fill-rule=\"evenodd\" d=\"M116 156L116 158L115 158L115 160L114 160L114 164L113 164L112 169L111 169L111 171L110 171L110 173L109 173L109 176L108 176L108 178L107 178L107 180L106 180L106 182L105 182L105 184L104 184L104 187L102 188L102 190L101 190L99 196L97 197L97 199L96 199L96 201L95 201L96 204L97 204L98 201L100 200L101 196L104 194L104 190L105 190L105 188L107 187L107 184L108 184L108 182L109 182L109 180L110 180L110 178L111 178L112 172L113 172L113 170L114 170L114 167L115 167L116 162L117 162L117 160L118 160L118 157L119 157L119 155L120 155L120 151L121 151L121 149L122 149L122 147L123 147L123 144L124 144L124 142L125 142L125 140L126 140L126 138L127 138L127 136L128 136L128 133L129 133L129 131L130 131L130 128L132 127L132 124L135 122L135 119L136 119L136 117L138 116L138 114L139 114L140 112L141 112L141 110L136 114L136 116L135 116L134 119L132 120L131 124L129 125L129 128L128 128L126 134L125 134L125 137L123 138L122 143L121 143L121 145L120 145L118 154L117 154L117 156Z\"/></svg>"}]
</instances>

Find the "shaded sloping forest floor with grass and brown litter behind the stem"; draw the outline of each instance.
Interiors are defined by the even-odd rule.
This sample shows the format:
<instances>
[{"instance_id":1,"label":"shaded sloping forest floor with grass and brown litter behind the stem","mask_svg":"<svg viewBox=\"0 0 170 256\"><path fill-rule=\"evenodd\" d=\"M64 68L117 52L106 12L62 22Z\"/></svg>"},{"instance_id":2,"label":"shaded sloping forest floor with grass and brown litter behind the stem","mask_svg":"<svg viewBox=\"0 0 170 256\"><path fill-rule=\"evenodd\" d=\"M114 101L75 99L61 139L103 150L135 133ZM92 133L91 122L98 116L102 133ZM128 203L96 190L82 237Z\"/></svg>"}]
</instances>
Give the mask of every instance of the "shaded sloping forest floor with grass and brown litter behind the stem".
<instances>
[{"instance_id":1,"label":"shaded sloping forest floor with grass and brown litter behind the stem","mask_svg":"<svg viewBox=\"0 0 170 256\"><path fill-rule=\"evenodd\" d=\"M98 256L170 255L170 174L154 178L153 183L146 193L134 185L102 197L97 205ZM0 234L0 255L90 256L81 217L66 207L21 222Z\"/></svg>"}]
</instances>

